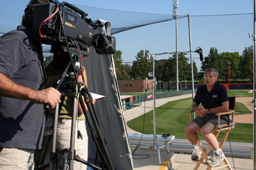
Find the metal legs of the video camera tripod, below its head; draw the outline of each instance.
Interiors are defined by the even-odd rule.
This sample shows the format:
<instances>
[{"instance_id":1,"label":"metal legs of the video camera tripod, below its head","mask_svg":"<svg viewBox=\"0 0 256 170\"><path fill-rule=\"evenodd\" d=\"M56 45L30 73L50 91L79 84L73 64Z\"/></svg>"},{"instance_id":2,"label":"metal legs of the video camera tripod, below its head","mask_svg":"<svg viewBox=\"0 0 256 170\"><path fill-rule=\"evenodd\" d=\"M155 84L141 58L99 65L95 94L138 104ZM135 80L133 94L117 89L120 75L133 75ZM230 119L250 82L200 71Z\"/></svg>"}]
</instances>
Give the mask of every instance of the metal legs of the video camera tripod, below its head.
<instances>
[{"instance_id":1,"label":"metal legs of the video camera tripod, below its head","mask_svg":"<svg viewBox=\"0 0 256 170\"><path fill-rule=\"evenodd\" d=\"M77 94L78 90L80 91L81 95L79 96L79 102L81 104L81 108L83 109L84 116L86 117L86 121L87 121L88 127L90 129L90 132L92 134L92 139L97 148L97 152L99 153L100 159L102 160L102 167L104 169L113 169L111 160L109 159L108 151L106 150L106 145L104 143L104 139L102 138L102 134L100 132L99 125L97 123L97 118L95 117L95 109L92 106L92 97L90 97L88 90L86 88L84 88L83 83L79 83L79 87L83 87L81 89L78 89L76 83L72 83L72 81L71 81L71 83L68 83L68 84L75 85L76 94ZM71 93L73 93L73 96L74 96L74 92L71 92ZM67 96L67 94L65 96ZM83 101L82 96L84 97L84 101ZM86 103L86 106L88 108L90 115L88 115L88 113L86 111L84 102ZM76 104L77 104L77 96L75 95L74 96L73 115L72 115L70 150L63 153L63 169L65 169L67 167L68 163L69 163L69 169L72 169L74 160L79 161L83 164L87 164L88 166L92 166L95 169L100 169L99 167L93 166L92 164L88 164L88 162L86 162L85 160L80 159L78 156L74 155L74 141L75 141L75 134L76 134L76 112L77 112ZM58 111L59 111L58 107L56 107L56 110L54 113L54 128L52 131L52 153L51 153L52 169L54 169L54 168L56 169L56 162L58 162L58 161L56 161L56 145L55 145L55 143L56 143L56 125L58 123ZM92 120L92 123L90 120ZM93 124L93 126L92 126L92 124Z\"/></svg>"}]
</instances>

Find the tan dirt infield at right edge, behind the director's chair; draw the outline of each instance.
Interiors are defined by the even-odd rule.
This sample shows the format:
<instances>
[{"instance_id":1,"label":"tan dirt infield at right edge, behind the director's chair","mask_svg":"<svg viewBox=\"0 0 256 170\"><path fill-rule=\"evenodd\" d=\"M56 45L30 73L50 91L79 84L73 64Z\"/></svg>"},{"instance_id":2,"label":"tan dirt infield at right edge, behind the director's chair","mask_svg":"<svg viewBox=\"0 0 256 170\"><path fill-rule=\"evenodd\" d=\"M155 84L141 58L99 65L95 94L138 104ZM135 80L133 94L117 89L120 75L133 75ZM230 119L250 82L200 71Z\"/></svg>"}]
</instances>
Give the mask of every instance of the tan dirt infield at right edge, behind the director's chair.
<instances>
[{"instance_id":1,"label":"tan dirt infield at right edge, behind the director's chair","mask_svg":"<svg viewBox=\"0 0 256 170\"><path fill-rule=\"evenodd\" d=\"M252 106L253 97L236 97L236 102L243 103L252 114L245 115L235 115L234 122L241 124L253 124L253 106Z\"/></svg>"}]
</instances>

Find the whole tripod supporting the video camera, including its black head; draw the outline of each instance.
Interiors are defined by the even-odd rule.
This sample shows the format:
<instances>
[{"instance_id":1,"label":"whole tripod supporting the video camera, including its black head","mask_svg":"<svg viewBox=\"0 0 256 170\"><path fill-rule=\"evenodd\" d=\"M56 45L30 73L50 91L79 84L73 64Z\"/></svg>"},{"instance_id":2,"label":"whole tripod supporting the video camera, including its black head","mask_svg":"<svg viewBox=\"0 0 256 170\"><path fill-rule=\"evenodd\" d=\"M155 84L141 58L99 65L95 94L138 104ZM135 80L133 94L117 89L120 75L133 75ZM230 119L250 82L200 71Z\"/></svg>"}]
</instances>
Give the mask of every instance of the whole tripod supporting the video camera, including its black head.
<instances>
[{"instance_id":1,"label":"whole tripod supporting the video camera, including its black head","mask_svg":"<svg viewBox=\"0 0 256 170\"><path fill-rule=\"evenodd\" d=\"M111 160L109 159L108 151L106 150L106 144L104 143L104 139L102 137L102 134L99 129L99 124L97 123L97 118L95 117L95 108L92 106L92 97L90 96L90 93L88 90L84 87L83 83L77 83L77 79L74 72L70 72L67 74L68 67L72 62L70 61L63 73L61 74L60 80L58 80L56 84L56 89L63 90L61 92L61 96L73 96L73 113L72 113L72 127L71 127L71 137L70 137L70 148L67 150L63 150L60 154L63 155L63 163L62 163L62 169L72 169L74 160L81 162L83 164L86 164L88 166L93 167L93 169L101 169L100 167L97 167L93 164L90 164L86 162L86 160L81 159L78 155L76 155L74 150L74 143L75 143L75 134L76 134L76 113L77 113L77 99L79 99L79 103L81 104L81 108L84 113L84 117L86 118L86 122L88 125L88 128L90 129L90 132L92 134L92 139L95 143L95 146L97 148L97 155L100 155L101 160L101 166L102 169L113 169L113 165L111 163ZM69 78L67 80L67 77ZM61 85L62 84L62 85ZM80 92L81 94L79 97L77 96L77 92ZM83 97L84 100L83 100ZM88 112L86 111L86 108L84 106L84 103L86 103L86 106L88 108ZM45 106L45 110L47 110L49 106ZM58 124L58 117L59 117L59 110L60 110L60 104L57 104L55 111L54 111L54 121L53 121L53 129L52 129L52 148L51 148L51 169L55 170L58 169L58 153L56 152L56 132L57 132L57 124ZM49 143L49 141L48 141ZM45 153L41 153L42 155L45 155ZM39 155L38 157L44 157ZM97 156L96 156L97 157ZM96 159L97 160L97 159ZM42 162L42 160L38 161ZM45 167L45 166L44 166ZM42 167L41 167L42 168ZM39 168L40 169L40 168Z\"/></svg>"}]
</instances>

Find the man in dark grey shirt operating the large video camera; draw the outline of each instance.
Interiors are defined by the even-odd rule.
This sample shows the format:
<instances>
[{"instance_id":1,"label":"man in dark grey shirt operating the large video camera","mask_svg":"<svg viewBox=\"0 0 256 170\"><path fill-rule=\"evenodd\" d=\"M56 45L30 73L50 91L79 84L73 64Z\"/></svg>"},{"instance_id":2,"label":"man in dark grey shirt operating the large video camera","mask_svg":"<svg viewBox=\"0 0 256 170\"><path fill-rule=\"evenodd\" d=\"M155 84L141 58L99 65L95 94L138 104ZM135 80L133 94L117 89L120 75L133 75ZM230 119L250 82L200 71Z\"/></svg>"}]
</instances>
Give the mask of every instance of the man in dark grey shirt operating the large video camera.
<instances>
[{"instance_id":1,"label":"man in dark grey shirt operating the large video camera","mask_svg":"<svg viewBox=\"0 0 256 170\"><path fill-rule=\"evenodd\" d=\"M35 4L50 2L31 0L22 25L0 38L0 169L33 169L44 136L43 104L60 103L58 90L44 89L42 41L32 30Z\"/></svg>"}]
</instances>

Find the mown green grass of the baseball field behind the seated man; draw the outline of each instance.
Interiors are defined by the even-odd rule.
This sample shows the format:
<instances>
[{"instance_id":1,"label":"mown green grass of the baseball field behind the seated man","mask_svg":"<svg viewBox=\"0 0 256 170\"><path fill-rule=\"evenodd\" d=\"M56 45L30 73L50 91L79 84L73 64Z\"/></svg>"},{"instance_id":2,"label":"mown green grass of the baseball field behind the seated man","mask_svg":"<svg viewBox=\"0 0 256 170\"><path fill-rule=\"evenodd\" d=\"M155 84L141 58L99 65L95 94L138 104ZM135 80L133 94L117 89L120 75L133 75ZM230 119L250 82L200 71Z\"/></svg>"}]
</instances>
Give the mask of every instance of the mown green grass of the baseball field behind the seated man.
<instances>
[{"instance_id":1,"label":"mown green grass of the baseball field behind the seated man","mask_svg":"<svg viewBox=\"0 0 256 170\"><path fill-rule=\"evenodd\" d=\"M251 97L248 91L228 91L228 96L236 95L236 97ZM246 96L247 95L247 96ZM192 98L180 99L156 108L156 133L172 134L175 138L186 139L184 129L189 122L189 113L191 110ZM236 103L236 112L252 113L242 103ZM138 118L134 118L127 122L128 126L135 131L144 132L145 134L153 134L153 111L145 113ZM220 134L222 136L223 134ZM202 136L201 136L202 138ZM234 142L253 142L253 125L252 124L236 124L236 128L230 131L230 140Z\"/></svg>"}]
</instances>

